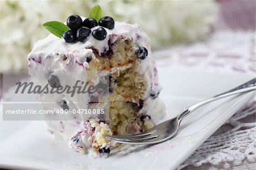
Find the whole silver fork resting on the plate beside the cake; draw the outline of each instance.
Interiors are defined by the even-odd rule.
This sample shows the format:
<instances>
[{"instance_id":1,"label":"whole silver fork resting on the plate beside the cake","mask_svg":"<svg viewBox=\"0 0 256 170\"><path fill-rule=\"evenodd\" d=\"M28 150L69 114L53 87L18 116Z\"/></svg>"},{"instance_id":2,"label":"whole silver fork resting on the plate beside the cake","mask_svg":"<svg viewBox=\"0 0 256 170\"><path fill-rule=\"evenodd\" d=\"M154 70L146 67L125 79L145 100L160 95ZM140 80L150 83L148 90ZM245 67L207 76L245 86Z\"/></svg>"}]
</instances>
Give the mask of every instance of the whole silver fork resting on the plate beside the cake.
<instances>
[{"instance_id":1,"label":"whole silver fork resting on the plate beside the cake","mask_svg":"<svg viewBox=\"0 0 256 170\"><path fill-rule=\"evenodd\" d=\"M256 89L256 78L242 84L236 88L228 90L227 92L213 96L212 98L206 99L205 101L199 102L195 105L185 108L179 115L175 118L169 119L155 127L151 128L146 132L142 132L134 135L122 135L122 136L110 136L106 135L108 139L114 140L118 143L127 143L127 144L154 144L164 142L168 139L171 139L177 134L177 131L180 126L180 122L194 110L198 109L201 106L206 105L207 103L216 101L224 97L231 96L233 94L249 92Z\"/></svg>"}]
</instances>

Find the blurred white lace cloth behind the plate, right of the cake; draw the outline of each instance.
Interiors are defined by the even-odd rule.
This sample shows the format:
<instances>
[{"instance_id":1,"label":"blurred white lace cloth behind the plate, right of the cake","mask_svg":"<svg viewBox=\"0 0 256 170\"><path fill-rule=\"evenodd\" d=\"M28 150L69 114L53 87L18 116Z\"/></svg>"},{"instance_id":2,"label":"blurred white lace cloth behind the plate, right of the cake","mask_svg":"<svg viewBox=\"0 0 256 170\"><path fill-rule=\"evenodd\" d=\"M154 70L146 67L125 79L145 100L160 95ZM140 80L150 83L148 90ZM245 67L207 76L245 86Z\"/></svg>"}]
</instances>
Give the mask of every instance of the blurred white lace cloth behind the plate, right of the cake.
<instances>
[{"instance_id":1,"label":"blurred white lace cloth behind the plate, right of the cake","mask_svg":"<svg viewBox=\"0 0 256 170\"><path fill-rule=\"evenodd\" d=\"M220 31L209 40L177 45L154 56L159 67L255 75L255 45L254 31Z\"/></svg>"}]
</instances>

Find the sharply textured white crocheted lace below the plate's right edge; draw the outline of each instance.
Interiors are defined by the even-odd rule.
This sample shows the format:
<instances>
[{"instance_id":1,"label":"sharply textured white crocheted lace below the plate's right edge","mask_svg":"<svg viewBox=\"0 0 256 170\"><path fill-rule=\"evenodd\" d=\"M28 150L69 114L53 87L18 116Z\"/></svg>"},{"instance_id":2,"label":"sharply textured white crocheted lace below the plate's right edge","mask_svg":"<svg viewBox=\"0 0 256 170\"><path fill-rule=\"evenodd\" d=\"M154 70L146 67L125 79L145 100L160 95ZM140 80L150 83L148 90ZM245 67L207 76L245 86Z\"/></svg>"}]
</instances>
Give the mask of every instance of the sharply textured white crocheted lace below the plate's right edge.
<instances>
[{"instance_id":1,"label":"sharply textured white crocheted lace below the plate's right edge","mask_svg":"<svg viewBox=\"0 0 256 170\"><path fill-rule=\"evenodd\" d=\"M179 169L188 165L221 164L223 168L240 165L242 161L256 161L255 100L238 111L222 128L230 130L211 136Z\"/></svg>"}]
</instances>

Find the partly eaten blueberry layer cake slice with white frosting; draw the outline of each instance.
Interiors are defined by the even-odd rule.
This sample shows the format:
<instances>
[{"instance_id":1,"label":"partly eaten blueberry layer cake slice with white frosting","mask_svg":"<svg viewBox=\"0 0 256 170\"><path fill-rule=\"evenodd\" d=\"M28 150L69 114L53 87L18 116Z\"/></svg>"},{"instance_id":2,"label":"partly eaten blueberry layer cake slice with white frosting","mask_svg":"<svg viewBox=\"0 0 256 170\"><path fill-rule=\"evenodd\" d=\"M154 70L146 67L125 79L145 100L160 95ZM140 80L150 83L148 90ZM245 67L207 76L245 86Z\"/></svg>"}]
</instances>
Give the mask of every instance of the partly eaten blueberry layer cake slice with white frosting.
<instances>
[{"instance_id":1,"label":"partly eaten blueberry layer cake slice with white frosting","mask_svg":"<svg viewBox=\"0 0 256 170\"><path fill-rule=\"evenodd\" d=\"M110 16L100 20L71 15L69 30L62 38L51 34L35 43L28 55L28 69L38 84L52 88L72 86L80 80L96 87L106 85L108 93L40 94L44 109L104 109L98 114L53 114L48 131L68 140L81 154L108 155L116 144L105 135L146 131L163 118L159 99L161 87L151 55L150 39L138 24L116 22ZM104 74L104 73L108 74ZM51 103L51 104L50 104Z\"/></svg>"}]
</instances>

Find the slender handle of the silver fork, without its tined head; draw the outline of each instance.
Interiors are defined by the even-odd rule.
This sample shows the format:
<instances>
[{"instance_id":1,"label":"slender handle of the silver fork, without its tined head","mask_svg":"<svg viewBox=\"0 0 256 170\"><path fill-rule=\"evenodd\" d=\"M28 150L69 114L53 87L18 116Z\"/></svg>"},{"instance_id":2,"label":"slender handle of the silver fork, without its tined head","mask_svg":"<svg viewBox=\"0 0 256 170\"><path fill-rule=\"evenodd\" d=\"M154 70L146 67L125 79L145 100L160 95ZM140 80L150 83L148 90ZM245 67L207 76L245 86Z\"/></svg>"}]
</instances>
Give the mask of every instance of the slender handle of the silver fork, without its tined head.
<instances>
[{"instance_id":1,"label":"slender handle of the silver fork, without its tined head","mask_svg":"<svg viewBox=\"0 0 256 170\"><path fill-rule=\"evenodd\" d=\"M207 103L216 101L217 99L232 96L232 95L238 94L238 93L249 92L249 91L255 90L255 89L256 89L256 78L253 78L252 80L246 82L245 84L237 86L236 88L230 89L224 93L217 94L216 96L206 99L205 101L201 101L199 103L196 103L195 105L187 107L180 113L180 115L178 116L178 119L179 119L179 121L181 121L183 118L185 118L187 115L189 115L192 111L198 109L201 106L206 105Z\"/></svg>"}]
</instances>

